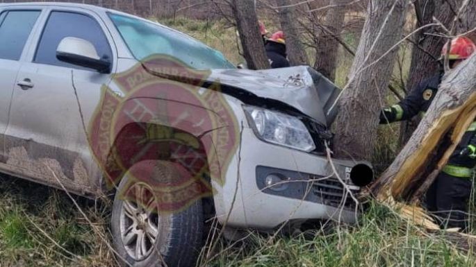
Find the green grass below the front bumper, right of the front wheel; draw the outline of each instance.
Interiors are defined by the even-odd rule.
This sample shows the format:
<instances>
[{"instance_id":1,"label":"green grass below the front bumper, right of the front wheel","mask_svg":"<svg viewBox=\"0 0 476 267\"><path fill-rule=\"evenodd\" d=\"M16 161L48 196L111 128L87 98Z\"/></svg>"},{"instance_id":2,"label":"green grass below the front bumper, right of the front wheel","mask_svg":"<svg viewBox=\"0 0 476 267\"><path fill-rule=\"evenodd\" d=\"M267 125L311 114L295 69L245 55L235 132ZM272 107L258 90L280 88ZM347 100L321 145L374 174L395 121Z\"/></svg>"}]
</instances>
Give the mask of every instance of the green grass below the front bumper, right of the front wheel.
<instances>
[{"instance_id":1,"label":"green grass below the front bumper, right of the front wheel","mask_svg":"<svg viewBox=\"0 0 476 267\"><path fill-rule=\"evenodd\" d=\"M211 266L475 266L473 257L441 237L426 237L379 205L359 225L340 226L313 238L254 236L247 248L235 248Z\"/></svg>"}]
</instances>

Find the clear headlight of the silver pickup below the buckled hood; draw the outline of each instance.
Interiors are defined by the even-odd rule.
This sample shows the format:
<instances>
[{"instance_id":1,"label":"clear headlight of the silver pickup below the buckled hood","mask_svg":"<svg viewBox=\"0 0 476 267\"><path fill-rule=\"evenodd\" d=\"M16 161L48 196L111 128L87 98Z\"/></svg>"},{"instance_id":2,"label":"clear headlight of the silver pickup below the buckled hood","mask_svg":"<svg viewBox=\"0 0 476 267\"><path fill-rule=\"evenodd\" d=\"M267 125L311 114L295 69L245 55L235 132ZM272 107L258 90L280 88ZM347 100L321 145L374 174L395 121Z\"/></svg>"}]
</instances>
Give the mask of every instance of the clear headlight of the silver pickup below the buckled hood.
<instances>
[{"instance_id":1,"label":"clear headlight of the silver pickup below the buckled hood","mask_svg":"<svg viewBox=\"0 0 476 267\"><path fill-rule=\"evenodd\" d=\"M260 107L243 108L259 139L306 152L315 149L309 130L296 117Z\"/></svg>"}]
</instances>

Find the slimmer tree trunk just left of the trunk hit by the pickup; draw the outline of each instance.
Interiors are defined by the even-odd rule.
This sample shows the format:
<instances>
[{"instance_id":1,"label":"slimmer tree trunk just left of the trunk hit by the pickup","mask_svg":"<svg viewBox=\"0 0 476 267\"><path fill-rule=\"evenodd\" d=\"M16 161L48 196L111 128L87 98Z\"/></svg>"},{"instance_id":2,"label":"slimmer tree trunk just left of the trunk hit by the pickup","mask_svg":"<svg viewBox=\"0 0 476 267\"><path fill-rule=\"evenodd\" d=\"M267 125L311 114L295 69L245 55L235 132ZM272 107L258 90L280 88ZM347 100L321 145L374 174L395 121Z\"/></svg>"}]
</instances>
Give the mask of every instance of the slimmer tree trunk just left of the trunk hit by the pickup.
<instances>
[{"instance_id":1,"label":"slimmer tree trunk just left of the trunk hit by the pickup","mask_svg":"<svg viewBox=\"0 0 476 267\"><path fill-rule=\"evenodd\" d=\"M334 35L339 35L344 23L346 7L342 6L349 0L331 0L329 5L336 6L329 8L326 13L324 26ZM315 49L314 69L326 76L329 80L336 80L337 52L339 43L330 33L318 28L318 43Z\"/></svg>"}]
</instances>

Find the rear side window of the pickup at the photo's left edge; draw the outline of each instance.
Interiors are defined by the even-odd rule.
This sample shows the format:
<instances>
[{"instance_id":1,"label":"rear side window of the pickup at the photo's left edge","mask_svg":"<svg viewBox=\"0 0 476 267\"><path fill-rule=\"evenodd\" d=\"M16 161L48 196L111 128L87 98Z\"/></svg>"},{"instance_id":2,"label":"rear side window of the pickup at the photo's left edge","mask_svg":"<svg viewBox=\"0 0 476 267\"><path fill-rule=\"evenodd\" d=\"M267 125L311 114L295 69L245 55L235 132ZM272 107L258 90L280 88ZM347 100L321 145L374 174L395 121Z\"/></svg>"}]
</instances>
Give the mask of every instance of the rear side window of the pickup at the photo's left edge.
<instances>
[{"instance_id":1,"label":"rear side window of the pickup at the photo's left edge","mask_svg":"<svg viewBox=\"0 0 476 267\"><path fill-rule=\"evenodd\" d=\"M19 60L40 11L5 11L0 15L0 58Z\"/></svg>"}]
</instances>

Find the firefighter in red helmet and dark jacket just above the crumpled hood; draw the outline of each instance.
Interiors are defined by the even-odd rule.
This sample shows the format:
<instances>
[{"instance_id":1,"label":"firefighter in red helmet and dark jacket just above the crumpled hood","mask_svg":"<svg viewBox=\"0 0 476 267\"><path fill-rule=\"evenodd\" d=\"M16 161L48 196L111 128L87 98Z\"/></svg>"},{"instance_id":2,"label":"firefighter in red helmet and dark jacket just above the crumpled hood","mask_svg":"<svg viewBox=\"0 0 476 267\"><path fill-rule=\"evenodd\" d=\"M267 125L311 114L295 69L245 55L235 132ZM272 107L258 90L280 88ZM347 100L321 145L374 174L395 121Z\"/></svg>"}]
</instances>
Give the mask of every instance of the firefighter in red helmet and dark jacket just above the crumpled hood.
<instances>
[{"instance_id":1,"label":"firefighter in red helmet and dark jacket just above the crumpled hood","mask_svg":"<svg viewBox=\"0 0 476 267\"><path fill-rule=\"evenodd\" d=\"M286 58L286 41L284 40L284 33L282 31L277 31L271 35L270 39L266 41L265 50L272 69L290 66Z\"/></svg>"}]
</instances>

